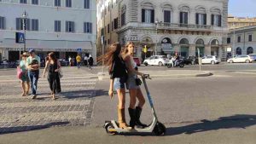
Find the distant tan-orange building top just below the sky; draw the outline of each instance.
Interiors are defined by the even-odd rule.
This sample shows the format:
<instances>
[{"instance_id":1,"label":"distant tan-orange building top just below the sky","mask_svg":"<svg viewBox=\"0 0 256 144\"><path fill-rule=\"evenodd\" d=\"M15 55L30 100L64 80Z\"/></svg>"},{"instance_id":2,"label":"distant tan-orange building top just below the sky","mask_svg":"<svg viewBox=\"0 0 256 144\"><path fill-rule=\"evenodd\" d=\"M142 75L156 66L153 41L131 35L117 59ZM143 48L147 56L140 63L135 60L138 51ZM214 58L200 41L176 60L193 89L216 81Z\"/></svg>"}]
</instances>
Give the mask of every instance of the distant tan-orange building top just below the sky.
<instances>
[{"instance_id":1,"label":"distant tan-orange building top just below the sky","mask_svg":"<svg viewBox=\"0 0 256 144\"><path fill-rule=\"evenodd\" d=\"M235 17L232 15L229 15L228 17L229 29L235 29L235 28L240 28L244 26L256 26L256 18Z\"/></svg>"}]
</instances>

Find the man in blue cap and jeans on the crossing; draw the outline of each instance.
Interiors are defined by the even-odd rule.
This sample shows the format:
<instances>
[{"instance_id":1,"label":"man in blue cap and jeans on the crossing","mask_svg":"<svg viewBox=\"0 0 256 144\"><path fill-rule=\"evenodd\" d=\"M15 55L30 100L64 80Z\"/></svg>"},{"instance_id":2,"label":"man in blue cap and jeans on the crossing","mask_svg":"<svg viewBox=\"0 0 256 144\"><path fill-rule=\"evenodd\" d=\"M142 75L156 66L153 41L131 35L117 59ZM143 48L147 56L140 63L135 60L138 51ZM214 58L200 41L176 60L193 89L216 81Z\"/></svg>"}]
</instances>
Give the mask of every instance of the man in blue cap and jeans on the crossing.
<instances>
[{"instance_id":1,"label":"man in blue cap and jeans on the crossing","mask_svg":"<svg viewBox=\"0 0 256 144\"><path fill-rule=\"evenodd\" d=\"M35 54L34 49L29 50L29 55L30 56L26 59L26 66L28 69L28 78L30 80L32 89L32 99L36 99L38 89L40 57Z\"/></svg>"}]
</instances>

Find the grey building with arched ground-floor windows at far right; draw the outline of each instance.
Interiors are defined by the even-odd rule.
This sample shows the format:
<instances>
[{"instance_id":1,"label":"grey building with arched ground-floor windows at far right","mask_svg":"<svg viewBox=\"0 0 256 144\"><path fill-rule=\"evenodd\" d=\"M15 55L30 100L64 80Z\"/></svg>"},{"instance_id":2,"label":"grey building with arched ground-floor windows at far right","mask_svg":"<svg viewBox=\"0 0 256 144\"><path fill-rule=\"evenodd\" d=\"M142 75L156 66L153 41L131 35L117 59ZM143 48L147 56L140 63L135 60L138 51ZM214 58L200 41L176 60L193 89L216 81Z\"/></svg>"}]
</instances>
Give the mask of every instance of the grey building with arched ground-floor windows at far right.
<instances>
[{"instance_id":1,"label":"grey building with arched ground-floor windows at far right","mask_svg":"<svg viewBox=\"0 0 256 144\"><path fill-rule=\"evenodd\" d=\"M230 30L227 43L230 45L228 56L255 54L256 26L246 26Z\"/></svg>"}]
</instances>

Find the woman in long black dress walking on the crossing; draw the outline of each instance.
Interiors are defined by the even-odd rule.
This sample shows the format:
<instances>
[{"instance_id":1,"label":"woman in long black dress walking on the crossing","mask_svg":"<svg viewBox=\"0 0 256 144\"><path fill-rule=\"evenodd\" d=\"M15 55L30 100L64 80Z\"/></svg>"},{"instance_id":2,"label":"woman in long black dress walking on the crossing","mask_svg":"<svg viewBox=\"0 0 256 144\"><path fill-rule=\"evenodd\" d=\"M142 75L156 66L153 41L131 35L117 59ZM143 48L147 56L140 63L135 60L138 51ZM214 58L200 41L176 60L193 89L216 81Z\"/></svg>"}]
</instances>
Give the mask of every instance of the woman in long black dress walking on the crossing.
<instances>
[{"instance_id":1,"label":"woman in long black dress walking on the crossing","mask_svg":"<svg viewBox=\"0 0 256 144\"><path fill-rule=\"evenodd\" d=\"M48 71L49 89L51 90L52 99L55 100L55 93L61 92L61 81L59 76L61 64L60 61L55 58L55 54L53 52L49 53L48 57L49 60L46 61L43 78L45 76L45 72Z\"/></svg>"}]
</instances>

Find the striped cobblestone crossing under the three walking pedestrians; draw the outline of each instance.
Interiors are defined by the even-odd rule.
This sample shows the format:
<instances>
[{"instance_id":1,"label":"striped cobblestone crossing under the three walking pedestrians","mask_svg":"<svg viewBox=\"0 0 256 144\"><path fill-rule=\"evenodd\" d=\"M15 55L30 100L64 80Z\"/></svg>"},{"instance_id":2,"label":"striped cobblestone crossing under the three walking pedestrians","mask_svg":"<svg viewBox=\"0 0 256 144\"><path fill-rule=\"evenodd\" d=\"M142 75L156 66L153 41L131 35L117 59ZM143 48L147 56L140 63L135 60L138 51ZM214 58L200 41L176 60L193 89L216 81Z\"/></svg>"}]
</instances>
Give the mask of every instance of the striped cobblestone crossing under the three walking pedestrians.
<instances>
[{"instance_id":1,"label":"striped cobblestone crossing under the three walking pedestrians","mask_svg":"<svg viewBox=\"0 0 256 144\"><path fill-rule=\"evenodd\" d=\"M96 96L95 75L74 67L62 71L62 91L57 100L51 99L46 78L39 78L38 96L32 100L31 96L21 96L15 75L0 77L0 134L90 124Z\"/></svg>"}]
</instances>

